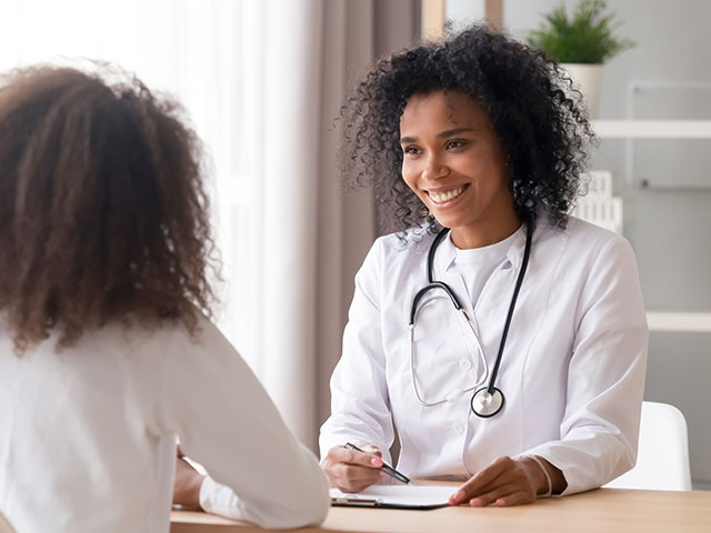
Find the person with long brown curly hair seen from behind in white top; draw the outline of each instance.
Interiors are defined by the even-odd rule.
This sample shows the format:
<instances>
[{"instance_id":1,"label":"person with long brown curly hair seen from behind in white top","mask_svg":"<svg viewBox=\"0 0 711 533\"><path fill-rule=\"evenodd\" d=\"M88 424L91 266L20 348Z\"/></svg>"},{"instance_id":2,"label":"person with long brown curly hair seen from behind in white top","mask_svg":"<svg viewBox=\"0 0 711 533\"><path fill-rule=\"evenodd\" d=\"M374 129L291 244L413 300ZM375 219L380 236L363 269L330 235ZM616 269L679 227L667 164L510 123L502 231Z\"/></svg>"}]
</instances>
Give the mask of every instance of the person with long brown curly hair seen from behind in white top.
<instances>
[{"instance_id":1,"label":"person with long brown curly hair seen from behind in white top","mask_svg":"<svg viewBox=\"0 0 711 533\"><path fill-rule=\"evenodd\" d=\"M328 512L317 459L210 322L181 114L108 67L2 80L0 514L18 532L167 532L176 436L213 476L179 503L269 527Z\"/></svg>"}]
</instances>

